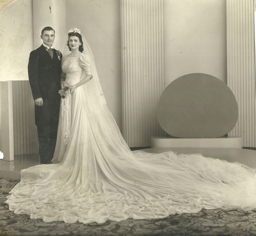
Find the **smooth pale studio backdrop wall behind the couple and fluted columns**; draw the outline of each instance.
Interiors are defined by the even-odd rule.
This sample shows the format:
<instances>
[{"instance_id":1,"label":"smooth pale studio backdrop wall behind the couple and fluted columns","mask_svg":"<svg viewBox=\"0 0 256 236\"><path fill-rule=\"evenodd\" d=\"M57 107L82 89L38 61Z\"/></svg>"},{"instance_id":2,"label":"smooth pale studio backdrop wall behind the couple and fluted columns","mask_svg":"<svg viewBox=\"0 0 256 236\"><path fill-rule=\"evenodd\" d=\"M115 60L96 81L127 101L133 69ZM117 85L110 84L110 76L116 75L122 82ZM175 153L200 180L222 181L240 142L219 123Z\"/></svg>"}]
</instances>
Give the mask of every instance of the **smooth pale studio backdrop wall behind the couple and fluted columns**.
<instances>
[{"instance_id":1,"label":"smooth pale studio backdrop wall behind the couple and fluted columns","mask_svg":"<svg viewBox=\"0 0 256 236\"><path fill-rule=\"evenodd\" d=\"M162 3L165 86L195 72L216 76L226 83L226 1ZM121 4L119 0L17 0L2 9L0 81L28 80L29 53L40 46L42 27L59 29L54 47L60 50L65 46L67 31L78 27L91 46L107 105L122 132ZM151 135L148 132L139 146L150 146Z\"/></svg>"}]
</instances>

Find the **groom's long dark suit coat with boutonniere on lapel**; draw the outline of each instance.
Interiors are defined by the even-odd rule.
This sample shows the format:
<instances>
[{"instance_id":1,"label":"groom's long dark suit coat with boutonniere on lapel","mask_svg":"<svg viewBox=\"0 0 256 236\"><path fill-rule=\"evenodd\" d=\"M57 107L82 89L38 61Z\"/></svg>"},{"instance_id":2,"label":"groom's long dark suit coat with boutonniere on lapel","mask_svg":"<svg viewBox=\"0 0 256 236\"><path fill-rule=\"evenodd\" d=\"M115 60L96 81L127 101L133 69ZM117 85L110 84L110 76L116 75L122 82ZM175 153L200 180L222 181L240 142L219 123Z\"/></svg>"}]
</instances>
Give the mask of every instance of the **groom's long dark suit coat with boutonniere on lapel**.
<instances>
[{"instance_id":1,"label":"groom's long dark suit coat with boutonniere on lapel","mask_svg":"<svg viewBox=\"0 0 256 236\"><path fill-rule=\"evenodd\" d=\"M35 105L35 124L58 124L61 59L54 49L53 59L43 45L30 53L28 74L34 100L43 99L43 106Z\"/></svg>"}]
</instances>

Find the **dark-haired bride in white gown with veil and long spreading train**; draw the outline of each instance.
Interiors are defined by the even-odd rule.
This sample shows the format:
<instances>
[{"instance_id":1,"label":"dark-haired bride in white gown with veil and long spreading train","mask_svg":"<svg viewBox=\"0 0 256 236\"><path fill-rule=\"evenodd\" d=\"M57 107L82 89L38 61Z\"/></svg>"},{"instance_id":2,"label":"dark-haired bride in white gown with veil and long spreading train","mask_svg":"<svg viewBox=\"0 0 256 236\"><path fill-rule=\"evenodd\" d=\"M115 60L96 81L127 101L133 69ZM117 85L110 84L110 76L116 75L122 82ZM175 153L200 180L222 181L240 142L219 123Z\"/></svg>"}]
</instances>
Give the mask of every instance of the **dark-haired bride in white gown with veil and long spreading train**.
<instances>
[{"instance_id":1,"label":"dark-haired bride in white gown with veil and long spreading train","mask_svg":"<svg viewBox=\"0 0 256 236\"><path fill-rule=\"evenodd\" d=\"M7 196L11 211L45 222L103 223L256 206L255 171L245 165L131 152L106 106L87 41L77 28L68 35L55 164L21 171Z\"/></svg>"}]
</instances>

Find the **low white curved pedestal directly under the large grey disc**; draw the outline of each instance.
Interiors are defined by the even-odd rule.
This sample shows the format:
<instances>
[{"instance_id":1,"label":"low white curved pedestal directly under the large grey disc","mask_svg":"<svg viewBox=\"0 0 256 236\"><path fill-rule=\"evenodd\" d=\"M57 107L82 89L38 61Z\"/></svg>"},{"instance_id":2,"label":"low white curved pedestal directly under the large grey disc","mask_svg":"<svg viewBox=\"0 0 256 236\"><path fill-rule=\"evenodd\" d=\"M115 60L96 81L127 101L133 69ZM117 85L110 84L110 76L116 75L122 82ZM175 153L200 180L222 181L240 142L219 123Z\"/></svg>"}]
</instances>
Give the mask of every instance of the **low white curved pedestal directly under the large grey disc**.
<instances>
[{"instance_id":1,"label":"low white curved pedestal directly under the large grey disc","mask_svg":"<svg viewBox=\"0 0 256 236\"><path fill-rule=\"evenodd\" d=\"M229 147L242 148L241 137L165 138L151 137L151 147Z\"/></svg>"}]
</instances>

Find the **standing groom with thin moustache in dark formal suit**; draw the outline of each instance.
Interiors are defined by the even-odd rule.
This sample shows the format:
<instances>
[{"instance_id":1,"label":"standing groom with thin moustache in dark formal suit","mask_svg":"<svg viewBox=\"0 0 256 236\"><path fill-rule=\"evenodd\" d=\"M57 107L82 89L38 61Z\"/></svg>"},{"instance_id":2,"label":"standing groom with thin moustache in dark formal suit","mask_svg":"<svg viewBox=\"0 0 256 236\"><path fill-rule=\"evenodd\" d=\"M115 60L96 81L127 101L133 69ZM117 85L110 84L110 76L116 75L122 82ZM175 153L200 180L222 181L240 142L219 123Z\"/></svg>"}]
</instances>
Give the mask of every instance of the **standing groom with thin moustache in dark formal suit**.
<instances>
[{"instance_id":1,"label":"standing groom with thin moustache in dark formal suit","mask_svg":"<svg viewBox=\"0 0 256 236\"><path fill-rule=\"evenodd\" d=\"M41 39L43 44L30 53L28 74L35 101L40 162L46 164L53 158L56 145L62 54L53 47L53 28L43 28Z\"/></svg>"}]
</instances>

